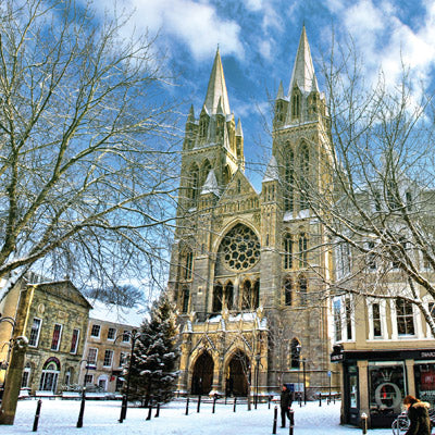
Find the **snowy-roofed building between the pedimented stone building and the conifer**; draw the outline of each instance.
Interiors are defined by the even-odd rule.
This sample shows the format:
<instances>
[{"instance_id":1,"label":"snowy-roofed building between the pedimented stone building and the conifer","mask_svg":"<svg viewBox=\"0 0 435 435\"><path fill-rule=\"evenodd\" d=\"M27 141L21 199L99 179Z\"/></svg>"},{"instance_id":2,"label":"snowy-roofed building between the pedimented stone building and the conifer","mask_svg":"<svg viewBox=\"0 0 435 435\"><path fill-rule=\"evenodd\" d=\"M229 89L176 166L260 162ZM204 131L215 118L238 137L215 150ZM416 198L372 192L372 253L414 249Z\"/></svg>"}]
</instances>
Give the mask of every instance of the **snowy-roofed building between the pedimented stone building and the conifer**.
<instances>
[{"instance_id":1,"label":"snowy-roofed building between the pedimented stone building and the conifer","mask_svg":"<svg viewBox=\"0 0 435 435\"><path fill-rule=\"evenodd\" d=\"M123 364L132 353L130 336L139 330L144 313L98 300L92 302L86 333L79 384L98 386L100 391L115 393L123 385Z\"/></svg>"}]
</instances>

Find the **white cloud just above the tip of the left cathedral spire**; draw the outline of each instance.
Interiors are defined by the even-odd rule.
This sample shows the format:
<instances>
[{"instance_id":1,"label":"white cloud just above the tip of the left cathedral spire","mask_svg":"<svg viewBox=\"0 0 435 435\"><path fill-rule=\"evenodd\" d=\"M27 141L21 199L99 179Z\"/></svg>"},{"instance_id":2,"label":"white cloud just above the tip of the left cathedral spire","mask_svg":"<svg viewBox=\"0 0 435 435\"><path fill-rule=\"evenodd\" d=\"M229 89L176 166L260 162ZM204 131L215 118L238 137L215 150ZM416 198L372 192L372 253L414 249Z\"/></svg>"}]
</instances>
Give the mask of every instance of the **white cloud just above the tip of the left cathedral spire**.
<instances>
[{"instance_id":1,"label":"white cloud just above the tip of the left cathedral spire","mask_svg":"<svg viewBox=\"0 0 435 435\"><path fill-rule=\"evenodd\" d=\"M221 18L210 3L194 0L125 0L122 4L135 11L132 27L135 26L137 33L161 30L163 38L178 38L196 59L210 58L217 44L225 54L244 58L240 26L235 21ZM100 11L108 9L110 12L113 10L113 0L99 0L95 5Z\"/></svg>"}]
</instances>

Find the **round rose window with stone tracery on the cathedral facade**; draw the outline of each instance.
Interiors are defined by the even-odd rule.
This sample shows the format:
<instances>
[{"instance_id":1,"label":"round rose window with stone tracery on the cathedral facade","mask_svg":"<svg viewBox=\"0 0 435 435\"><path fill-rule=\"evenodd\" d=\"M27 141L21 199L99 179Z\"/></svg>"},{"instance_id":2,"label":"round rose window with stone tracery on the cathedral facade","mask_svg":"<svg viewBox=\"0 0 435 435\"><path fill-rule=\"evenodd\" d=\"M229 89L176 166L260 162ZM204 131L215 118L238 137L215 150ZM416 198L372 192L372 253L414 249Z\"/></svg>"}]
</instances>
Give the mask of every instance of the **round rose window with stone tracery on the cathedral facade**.
<instances>
[{"instance_id":1,"label":"round rose window with stone tracery on the cathedral facade","mask_svg":"<svg viewBox=\"0 0 435 435\"><path fill-rule=\"evenodd\" d=\"M260 259L260 243L252 229L238 224L223 238L220 253L227 268L245 271Z\"/></svg>"}]
</instances>

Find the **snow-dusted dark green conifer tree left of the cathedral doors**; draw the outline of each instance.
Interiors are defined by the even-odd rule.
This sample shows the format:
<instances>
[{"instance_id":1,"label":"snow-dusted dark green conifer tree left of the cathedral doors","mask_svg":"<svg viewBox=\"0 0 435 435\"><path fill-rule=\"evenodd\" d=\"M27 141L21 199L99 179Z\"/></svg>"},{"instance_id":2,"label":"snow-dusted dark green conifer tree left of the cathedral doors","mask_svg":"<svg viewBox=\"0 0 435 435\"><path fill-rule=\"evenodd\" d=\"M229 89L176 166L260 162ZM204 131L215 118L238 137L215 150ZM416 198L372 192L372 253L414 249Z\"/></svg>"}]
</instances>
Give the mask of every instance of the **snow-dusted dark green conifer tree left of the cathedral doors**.
<instances>
[{"instance_id":1,"label":"snow-dusted dark green conifer tree left of the cathedral doors","mask_svg":"<svg viewBox=\"0 0 435 435\"><path fill-rule=\"evenodd\" d=\"M163 295L153 303L150 319L140 326L132 361L130 399L139 399L145 406L150 400L171 400L178 375L177 333L173 308Z\"/></svg>"}]
</instances>

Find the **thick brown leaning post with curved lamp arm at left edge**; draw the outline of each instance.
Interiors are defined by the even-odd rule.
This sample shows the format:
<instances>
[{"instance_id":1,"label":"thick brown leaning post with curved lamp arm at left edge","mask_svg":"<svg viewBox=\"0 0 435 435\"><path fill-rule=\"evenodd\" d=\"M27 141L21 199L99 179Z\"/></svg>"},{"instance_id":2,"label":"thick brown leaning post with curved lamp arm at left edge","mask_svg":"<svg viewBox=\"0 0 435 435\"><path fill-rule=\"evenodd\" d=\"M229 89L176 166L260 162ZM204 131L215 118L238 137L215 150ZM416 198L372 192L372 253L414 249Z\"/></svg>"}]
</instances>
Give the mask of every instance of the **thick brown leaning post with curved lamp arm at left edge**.
<instances>
[{"instance_id":1,"label":"thick brown leaning post with curved lamp arm at left edge","mask_svg":"<svg viewBox=\"0 0 435 435\"><path fill-rule=\"evenodd\" d=\"M15 337L15 319L2 316L0 313L0 324L3 322L12 326L12 338L5 344L8 346L8 353L5 360L1 362L1 369L5 371L5 374L0 408L0 424L13 424L28 339L23 335Z\"/></svg>"}]
</instances>

